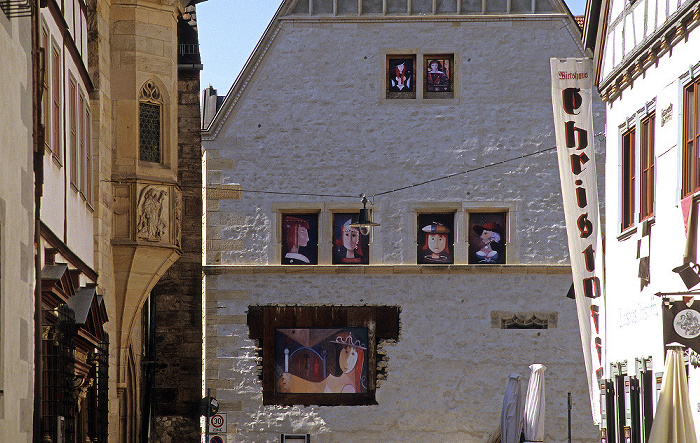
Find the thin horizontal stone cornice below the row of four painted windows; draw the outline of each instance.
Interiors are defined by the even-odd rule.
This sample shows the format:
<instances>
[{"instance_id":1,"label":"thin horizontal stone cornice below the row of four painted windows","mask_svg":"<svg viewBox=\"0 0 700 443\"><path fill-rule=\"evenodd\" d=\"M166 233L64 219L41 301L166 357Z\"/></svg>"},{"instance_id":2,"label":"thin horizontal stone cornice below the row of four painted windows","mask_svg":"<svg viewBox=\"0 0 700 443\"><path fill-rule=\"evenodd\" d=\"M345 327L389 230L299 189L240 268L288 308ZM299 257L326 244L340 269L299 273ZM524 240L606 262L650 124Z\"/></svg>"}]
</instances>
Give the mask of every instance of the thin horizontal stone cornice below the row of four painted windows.
<instances>
[{"instance_id":1,"label":"thin horizontal stone cornice below the row of four painted windows","mask_svg":"<svg viewBox=\"0 0 700 443\"><path fill-rule=\"evenodd\" d=\"M205 275L571 274L570 265L206 265Z\"/></svg>"}]
</instances>

